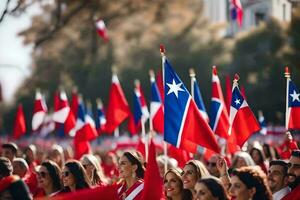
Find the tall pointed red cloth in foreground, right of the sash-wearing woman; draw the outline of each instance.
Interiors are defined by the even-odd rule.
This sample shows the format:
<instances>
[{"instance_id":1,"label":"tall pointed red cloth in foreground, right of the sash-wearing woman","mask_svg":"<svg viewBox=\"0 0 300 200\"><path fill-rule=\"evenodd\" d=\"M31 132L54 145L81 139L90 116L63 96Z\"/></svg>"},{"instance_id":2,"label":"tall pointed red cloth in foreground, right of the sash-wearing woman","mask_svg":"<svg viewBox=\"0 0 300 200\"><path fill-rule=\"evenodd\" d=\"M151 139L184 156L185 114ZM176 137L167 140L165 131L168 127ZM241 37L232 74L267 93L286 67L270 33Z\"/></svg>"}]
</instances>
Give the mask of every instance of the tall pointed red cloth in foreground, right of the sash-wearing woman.
<instances>
[{"instance_id":1,"label":"tall pointed red cloth in foreground, right of the sash-wearing woman","mask_svg":"<svg viewBox=\"0 0 300 200\"><path fill-rule=\"evenodd\" d=\"M144 177L144 189L142 200L153 200L163 198L163 180L160 177L156 162L156 151L153 140L149 145L148 163Z\"/></svg>"}]
</instances>

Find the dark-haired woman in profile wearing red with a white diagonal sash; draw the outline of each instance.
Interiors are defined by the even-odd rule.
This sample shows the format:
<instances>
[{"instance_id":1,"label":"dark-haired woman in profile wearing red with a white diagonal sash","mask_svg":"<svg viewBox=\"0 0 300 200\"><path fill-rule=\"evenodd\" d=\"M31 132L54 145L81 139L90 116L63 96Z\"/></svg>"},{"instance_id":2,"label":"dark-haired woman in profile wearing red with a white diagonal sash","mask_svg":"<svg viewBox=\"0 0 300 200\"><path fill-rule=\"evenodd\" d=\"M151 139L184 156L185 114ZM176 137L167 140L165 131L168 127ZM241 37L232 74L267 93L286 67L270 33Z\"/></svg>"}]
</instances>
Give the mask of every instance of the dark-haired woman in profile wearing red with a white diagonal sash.
<instances>
[{"instance_id":1,"label":"dark-haired woman in profile wearing red with a white diagonal sash","mask_svg":"<svg viewBox=\"0 0 300 200\"><path fill-rule=\"evenodd\" d=\"M119 159L122 179L118 188L119 199L139 200L144 188L144 166L137 152L125 152Z\"/></svg>"}]
</instances>

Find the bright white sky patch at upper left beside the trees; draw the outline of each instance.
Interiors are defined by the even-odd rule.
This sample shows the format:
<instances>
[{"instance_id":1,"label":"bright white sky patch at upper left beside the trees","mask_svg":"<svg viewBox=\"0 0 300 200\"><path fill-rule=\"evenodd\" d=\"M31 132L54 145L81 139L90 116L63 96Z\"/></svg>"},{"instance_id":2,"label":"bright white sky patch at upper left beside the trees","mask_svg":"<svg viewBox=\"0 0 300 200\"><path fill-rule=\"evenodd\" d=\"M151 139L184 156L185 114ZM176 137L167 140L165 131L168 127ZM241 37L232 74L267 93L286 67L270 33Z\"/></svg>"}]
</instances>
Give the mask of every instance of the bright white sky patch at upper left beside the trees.
<instances>
[{"instance_id":1,"label":"bright white sky patch at upper left beside the trees","mask_svg":"<svg viewBox=\"0 0 300 200\"><path fill-rule=\"evenodd\" d=\"M1 13L5 3L0 1ZM30 17L38 11L39 7L34 5L19 17L7 15L0 23L0 83L4 101L8 103L14 100L14 93L31 71L32 47L24 46L17 33L30 25Z\"/></svg>"}]
</instances>

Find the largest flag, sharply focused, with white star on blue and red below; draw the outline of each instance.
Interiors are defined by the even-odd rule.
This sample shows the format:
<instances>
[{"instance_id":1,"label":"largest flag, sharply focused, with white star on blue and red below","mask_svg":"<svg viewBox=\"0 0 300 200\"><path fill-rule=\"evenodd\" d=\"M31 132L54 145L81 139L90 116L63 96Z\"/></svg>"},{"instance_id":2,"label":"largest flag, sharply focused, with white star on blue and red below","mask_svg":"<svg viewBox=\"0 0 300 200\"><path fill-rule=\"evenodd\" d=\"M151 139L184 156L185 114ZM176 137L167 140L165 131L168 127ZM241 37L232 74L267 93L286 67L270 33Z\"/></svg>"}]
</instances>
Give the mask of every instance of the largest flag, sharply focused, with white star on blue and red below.
<instances>
[{"instance_id":1,"label":"largest flag, sharply focused, with white star on blue and red below","mask_svg":"<svg viewBox=\"0 0 300 200\"><path fill-rule=\"evenodd\" d=\"M197 144L219 152L218 143L195 101L163 57L165 69L164 140L195 153Z\"/></svg>"}]
</instances>

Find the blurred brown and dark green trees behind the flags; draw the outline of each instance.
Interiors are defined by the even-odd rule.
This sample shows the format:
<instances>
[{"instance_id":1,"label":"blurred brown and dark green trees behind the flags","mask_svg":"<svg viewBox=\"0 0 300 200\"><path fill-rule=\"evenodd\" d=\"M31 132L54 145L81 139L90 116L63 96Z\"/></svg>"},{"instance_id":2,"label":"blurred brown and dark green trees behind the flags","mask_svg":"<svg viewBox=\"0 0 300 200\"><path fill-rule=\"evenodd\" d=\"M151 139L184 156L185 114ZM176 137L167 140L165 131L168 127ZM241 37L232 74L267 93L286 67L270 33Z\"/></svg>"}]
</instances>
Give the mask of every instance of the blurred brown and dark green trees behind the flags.
<instances>
[{"instance_id":1,"label":"blurred brown and dark green trees behind the flags","mask_svg":"<svg viewBox=\"0 0 300 200\"><path fill-rule=\"evenodd\" d=\"M16 5L6 2L0 22L6 14L24 12L33 4L42 9L32 18L31 26L20 33L25 44L35 47L32 76L16 95L17 102L22 101L27 109L27 119L31 119L37 87L47 92L48 107L53 106L53 93L60 86L68 93L77 86L85 98L95 102L100 96L106 104L112 66L118 69L129 103L136 78L142 81L149 97L148 70L160 69L158 47L163 43L187 87L188 69L195 68L208 109L211 66L217 65L221 80L225 74L233 76L239 72L254 112L262 109L267 119L275 121L274 113L282 113L285 108L284 66L299 66L297 21L289 31L271 20L235 38L222 38L219 30L226 24L208 23L199 0L19 0ZM96 33L95 20L100 18L107 25L108 43ZM295 70L292 76L297 74L299 71ZM11 130L13 114L11 109L6 110L7 130Z\"/></svg>"}]
</instances>

